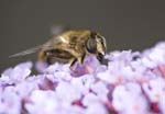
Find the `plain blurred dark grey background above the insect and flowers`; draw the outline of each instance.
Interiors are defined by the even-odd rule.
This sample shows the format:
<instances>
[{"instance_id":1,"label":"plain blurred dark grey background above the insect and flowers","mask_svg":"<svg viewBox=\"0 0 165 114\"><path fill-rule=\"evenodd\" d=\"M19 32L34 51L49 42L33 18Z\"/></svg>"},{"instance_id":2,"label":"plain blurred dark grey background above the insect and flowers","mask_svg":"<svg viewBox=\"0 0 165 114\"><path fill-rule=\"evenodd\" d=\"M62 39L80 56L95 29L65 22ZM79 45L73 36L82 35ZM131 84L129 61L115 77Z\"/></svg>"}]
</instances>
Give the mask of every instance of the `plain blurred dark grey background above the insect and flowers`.
<instances>
[{"instance_id":1,"label":"plain blurred dark grey background above the insect and flowers","mask_svg":"<svg viewBox=\"0 0 165 114\"><path fill-rule=\"evenodd\" d=\"M54 24L103 34L108 50L142 50L165 39L164 0L0 0L0 71L35 54L10 55L43 44Z\"/></svg>"}]
</instances>

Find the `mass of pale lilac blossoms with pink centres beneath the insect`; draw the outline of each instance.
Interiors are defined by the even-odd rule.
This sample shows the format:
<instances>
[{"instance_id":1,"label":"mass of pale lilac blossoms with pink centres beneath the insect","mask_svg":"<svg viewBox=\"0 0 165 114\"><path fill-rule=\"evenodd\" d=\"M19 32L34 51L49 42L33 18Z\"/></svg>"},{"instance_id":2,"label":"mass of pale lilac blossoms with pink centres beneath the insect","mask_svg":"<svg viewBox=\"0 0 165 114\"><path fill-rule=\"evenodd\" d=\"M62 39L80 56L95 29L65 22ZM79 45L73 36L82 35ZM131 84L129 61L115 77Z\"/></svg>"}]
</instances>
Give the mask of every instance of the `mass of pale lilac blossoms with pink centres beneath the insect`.
<instances>
[{"instance_id":1,"label":"mass of pale lilac blossoms with pink centres beneath the insect","mask_svg":"<svg viewBox=\"0 0 165 114\"><path fill-rule=\"evenodd\" d=\"M95 56L72 70L68 64L31 61L0 77L0 114L165 114L165 42L142 53Z\"/></svg>"}]
</instances>

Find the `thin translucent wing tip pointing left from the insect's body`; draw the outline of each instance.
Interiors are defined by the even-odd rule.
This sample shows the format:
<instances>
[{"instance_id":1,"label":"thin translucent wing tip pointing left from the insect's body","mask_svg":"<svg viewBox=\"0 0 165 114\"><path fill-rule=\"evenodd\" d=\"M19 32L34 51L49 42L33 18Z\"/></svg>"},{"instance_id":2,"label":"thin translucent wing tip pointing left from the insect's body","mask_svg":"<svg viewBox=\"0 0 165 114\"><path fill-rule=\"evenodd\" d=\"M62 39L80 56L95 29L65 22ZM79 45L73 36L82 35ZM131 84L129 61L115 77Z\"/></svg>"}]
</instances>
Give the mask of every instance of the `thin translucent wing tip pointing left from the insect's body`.
<instances>
[{"instance_id":1,"label":"thin translucent wing tip pointing left from the insect's body","mask_svg":"<svg viewBox=\"0 0 165 114\"><path fill-rule=\"evenodd\" d=\"M26 50L23 50L23 52L20 52L20 53L16 53L16 54L11 55L11 56L9 56L9 57L25 56L25 55L29 55L29 54L36 53L36 52L40 50L41 48L42 48L42 45L41 45L41 46L33 47L33 48L30 48L30 49L26 49Z\"/></svg>"}]
</instances>

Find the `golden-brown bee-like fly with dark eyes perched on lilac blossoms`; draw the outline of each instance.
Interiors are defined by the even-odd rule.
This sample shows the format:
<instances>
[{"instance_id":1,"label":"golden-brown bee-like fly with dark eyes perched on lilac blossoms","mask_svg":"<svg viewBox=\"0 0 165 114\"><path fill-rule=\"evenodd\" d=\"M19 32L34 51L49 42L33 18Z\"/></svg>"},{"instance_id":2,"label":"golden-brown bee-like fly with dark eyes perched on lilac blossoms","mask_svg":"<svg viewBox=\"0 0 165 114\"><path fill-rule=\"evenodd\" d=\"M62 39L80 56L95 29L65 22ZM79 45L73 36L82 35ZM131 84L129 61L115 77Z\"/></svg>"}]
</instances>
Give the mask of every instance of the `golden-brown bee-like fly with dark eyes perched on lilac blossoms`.
<instances>
[{"instance_id":1,"label":"golden-brown bee-like fly with dark eyes perched on lilac blossoms","mask_svg":"<svg viewBox=\"0 0 165 114\"><path fill-rule=\"evenodd\" d=\"M88 55L95 55L101 62L106 55L106 38L99 33L89 30L65 31L47 41L45 44L34 48L14 54L10 57L24 56L38 53L38 60L48 65L55 61L69 62L70 67L75 62L84 62Z\"/></svg>"}]
</instances>

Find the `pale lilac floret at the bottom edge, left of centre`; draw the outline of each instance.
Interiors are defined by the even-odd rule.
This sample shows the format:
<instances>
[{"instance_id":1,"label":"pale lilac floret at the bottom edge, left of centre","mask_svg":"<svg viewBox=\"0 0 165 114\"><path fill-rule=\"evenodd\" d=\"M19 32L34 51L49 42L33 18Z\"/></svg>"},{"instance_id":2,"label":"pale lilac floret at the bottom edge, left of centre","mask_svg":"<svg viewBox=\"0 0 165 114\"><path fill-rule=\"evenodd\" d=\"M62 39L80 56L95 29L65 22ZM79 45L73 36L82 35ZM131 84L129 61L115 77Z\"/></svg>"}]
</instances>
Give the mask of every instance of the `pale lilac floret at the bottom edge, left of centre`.
<instances>
[{"instance_id":1,"label":"pale lilac floret at the bottom edge, left of centre","mask_svg":"<svg viewBox=\"0 0 165 114\"><path fill-rule=\"evenodd\" d=\"M35 90L30 95L25 109L30 114L53 114L58 107L58 100L53 91Z\"/></svg>"}]
</instances>

